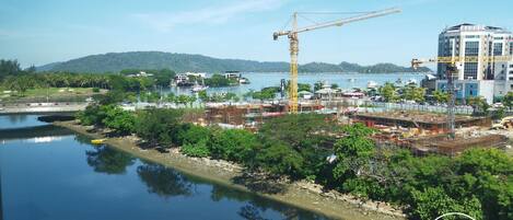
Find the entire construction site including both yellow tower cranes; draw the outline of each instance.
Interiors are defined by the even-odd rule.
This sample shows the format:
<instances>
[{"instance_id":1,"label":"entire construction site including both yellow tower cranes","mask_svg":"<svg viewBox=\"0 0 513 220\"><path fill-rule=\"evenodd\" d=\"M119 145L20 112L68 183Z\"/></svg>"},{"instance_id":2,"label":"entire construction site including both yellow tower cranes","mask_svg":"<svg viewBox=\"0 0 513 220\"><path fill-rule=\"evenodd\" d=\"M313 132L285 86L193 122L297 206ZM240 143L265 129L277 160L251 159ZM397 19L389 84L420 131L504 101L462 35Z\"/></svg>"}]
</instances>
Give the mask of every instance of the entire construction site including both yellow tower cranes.
<instances>
[{"instance_id":1,"label":"entire construction site including both yellow tower cranes","mask_svg":"<svg viewBox=\"0 0 513 220\"><path fill-rule=\"evenodd\" d=\"M303 13L293 13L290 30L278 31L272 34L277 40L287 36L290 43L290 88L288 100L254 103L210 103L206 105L201 124L219 125L228 128L245 128L256 131L258 126L267 119L287 114L316 113L329 115L340 125L361 123L378 130L372 138L378 147L400 147L411 150L418 155L439 153L455 155L468 148L504 147L509 143L513 128L513 117L505 117L493 124L490 116L475 116L474 113L462 114L455 105L456 92L453 81L456 80L462 62L490 61L489 57L436 57L431 59L412 59L411 67L417 69L424 63L443 63L447 79L446 92L448 101L443 112L429 111L430 106L417 106L415 109L397 109L386 107L360 107L369 105L365 96L343 97L331 95L328 99L301 100L298 95L298 54L299 34L318 28L342 26L362 20L384 16L400 12L399 9L387 9L362 13L361 15L315 23L310 26L298 26L298 18ZM312 14L312 13L308 13ZM493 59L495 59L494 57ZM499 57L498 59L511 59ZM358 102L357 102L358 101ZM431 106L431 108L438 108ZM495 130L492 130L495 129Z\"/></svg>"}]
</instances>

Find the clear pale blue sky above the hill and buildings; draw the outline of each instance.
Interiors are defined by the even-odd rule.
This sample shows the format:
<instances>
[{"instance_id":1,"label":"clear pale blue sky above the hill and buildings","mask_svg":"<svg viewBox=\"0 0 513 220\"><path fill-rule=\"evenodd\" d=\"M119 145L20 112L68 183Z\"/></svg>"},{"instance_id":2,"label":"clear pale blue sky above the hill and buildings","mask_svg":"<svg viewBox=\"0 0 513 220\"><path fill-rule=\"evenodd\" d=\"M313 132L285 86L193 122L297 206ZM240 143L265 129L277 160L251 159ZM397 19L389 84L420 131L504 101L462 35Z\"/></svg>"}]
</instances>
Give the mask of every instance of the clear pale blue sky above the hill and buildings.
<instances>
[{"instance_id":1,"label":"clear pale blue sky above the hill and buildings","mask_svg":"<svg viewBox=\"0 0 513 220\"><path fill-rule=\"evenodd\" d=\"M513 30L513 0L0 0L0 59L23 67L88 55L158 50L215 58L289 61L294 11L401 13L300 34L299 62L361 65L436 55L444 27L476 23ZM355 14L305 14L299 26Z\"/></svg>"}]
</instances>

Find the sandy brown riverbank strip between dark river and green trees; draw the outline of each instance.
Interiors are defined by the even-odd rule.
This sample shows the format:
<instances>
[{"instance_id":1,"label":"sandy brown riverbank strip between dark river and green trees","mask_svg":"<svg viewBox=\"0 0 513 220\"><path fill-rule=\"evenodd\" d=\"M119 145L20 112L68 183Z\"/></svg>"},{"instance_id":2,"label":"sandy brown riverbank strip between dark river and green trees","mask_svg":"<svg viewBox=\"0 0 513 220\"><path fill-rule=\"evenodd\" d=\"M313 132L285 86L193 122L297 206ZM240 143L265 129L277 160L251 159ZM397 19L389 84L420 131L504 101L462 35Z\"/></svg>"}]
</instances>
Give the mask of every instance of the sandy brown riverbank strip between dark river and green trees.
<instances>
[{"instance_id":1,"label":"sandy brown riverbank strip between dark river and green trees","mask_svg":"<svg viewBox=\"0 0 513 220\"><path fill-rule=\"evenodd\" d=\"M74 121L56 121L54 125L66 127L91 138L105 138L101 132L89 132L88 127L77 125ZM255 192L250 190L247 185L234 183L233 180L240 178L243 174L243 167L236 164L226 161L186 157L179 153L177 149L173 149L168 153L160 153L156 150L143 150L137 146L137 141L136 137L123 137L107 138L105 142L113 148L173 167L188 175L199 176L238 190ZM266 183L263 184L265 186ZM280 188L280 193L258 193L258 195L335 219L405 219L400 210L396 210L383 202L362 202L352 196L335 190L323 192L319 185L307 182L282 184Z\"/></svg>"}]
</instances>

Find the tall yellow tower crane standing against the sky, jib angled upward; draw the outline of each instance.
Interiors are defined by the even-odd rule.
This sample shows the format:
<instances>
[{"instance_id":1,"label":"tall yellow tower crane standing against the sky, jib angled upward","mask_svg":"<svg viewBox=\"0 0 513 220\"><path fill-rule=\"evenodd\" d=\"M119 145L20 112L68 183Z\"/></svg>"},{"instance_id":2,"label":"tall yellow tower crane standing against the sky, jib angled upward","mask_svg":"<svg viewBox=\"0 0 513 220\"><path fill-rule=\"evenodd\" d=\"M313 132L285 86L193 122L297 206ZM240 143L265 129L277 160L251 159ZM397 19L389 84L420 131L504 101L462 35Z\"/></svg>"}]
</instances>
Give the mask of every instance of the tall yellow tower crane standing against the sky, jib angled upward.
<instances>
[{"instance_id":1,"label":"tall yellow tower crane standing against the sky, jib angled upward","mask_svg":"<svg viewBox=\"0 0 513 220\"><path fill-rule=\"evenodd\" d=\"M319 30L330 26L341 26L352 22L358 22L362 20L368 20L377 16L384 16L387 14L398 13L400 9L392 8L381 11L364 12L360 15L340 19L335 21L329 21L325 23L318 23L305 27L298 27L298 15L301 15L300 12L294 12L292 14L292 30L289 31L279 31L272 34L275 40L280 36L288 36L290 40L290 91L289 91L289 112L298 113L298 53L299 53L299 37L298 34L302 32L310 32L314 30ZM305 12L306 13L306 12ZM311 12L307 12L311 13Z\"/></svg>"}]
</instances>

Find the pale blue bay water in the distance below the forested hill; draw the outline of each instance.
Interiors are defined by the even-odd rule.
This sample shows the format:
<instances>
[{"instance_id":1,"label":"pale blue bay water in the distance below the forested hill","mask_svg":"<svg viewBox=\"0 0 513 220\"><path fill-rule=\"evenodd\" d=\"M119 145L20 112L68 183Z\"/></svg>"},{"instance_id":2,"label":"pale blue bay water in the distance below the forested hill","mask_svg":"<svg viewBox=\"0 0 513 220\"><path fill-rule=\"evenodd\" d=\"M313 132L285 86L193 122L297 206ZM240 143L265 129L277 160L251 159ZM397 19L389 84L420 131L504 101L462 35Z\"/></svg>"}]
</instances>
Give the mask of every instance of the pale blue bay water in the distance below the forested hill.
<instances>
[{"instance_id":1,"label":"pale blue bay water in the distance below the forested hill","mask_svg":"<svg viewBox=\"0 0 513 220\"><path fill-rule=\"evenodd\" d=\"M240 86L230 88L211 88L208 92L233 92L236 94L244 94L249 90L260 90L266 86L279 86L280 80L289 80L288 72L250 72L242 73L243 77L249 79L250 84L243 84ZM328 83L337 83L342 89L351 88L366 88L369 81L374 81L377 84L385 82L395 82L398 79L403 82L408 80L416 80L418 83L424 78L424 73L300 73L298 82L313 84L317 81L327 81ZM189 93L190 88L174 88L172 92L177 94Z\"/></svg>"}]
</instances>

